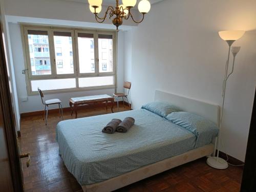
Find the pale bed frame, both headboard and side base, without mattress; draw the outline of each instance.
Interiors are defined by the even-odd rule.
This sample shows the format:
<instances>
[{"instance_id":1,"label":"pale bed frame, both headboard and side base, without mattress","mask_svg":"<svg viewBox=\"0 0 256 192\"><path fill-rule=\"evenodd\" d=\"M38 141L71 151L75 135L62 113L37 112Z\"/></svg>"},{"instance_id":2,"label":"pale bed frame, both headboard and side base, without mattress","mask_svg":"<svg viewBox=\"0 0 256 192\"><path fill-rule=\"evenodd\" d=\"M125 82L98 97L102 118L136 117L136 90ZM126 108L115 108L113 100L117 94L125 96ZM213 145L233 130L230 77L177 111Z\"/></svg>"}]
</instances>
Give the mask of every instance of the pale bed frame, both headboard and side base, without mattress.
<instances>
[{"instance_id":1,"label":"pale bed frame, both headboard and side base, without mattress","mask_svg":"<svg viewBox=\"0 0 256 192\"><path fill-rule=\"evenodd\" d=\"M219 106L203 101L166 93L163 91L155 92L155 101L165 101L178 106L181 110L198 114L215 123L219 124ZM217 139L215 139L216 143ZM112 191L126 185L135 183L147 177L159 174L170 168L194 161L204 156L214 154L216 144L208 145L190 150L178 156L170 157L156 163L135 169L132 172L90 185L82 185L84 192Z\"/></svg>"}]
</instances>

